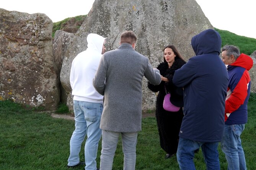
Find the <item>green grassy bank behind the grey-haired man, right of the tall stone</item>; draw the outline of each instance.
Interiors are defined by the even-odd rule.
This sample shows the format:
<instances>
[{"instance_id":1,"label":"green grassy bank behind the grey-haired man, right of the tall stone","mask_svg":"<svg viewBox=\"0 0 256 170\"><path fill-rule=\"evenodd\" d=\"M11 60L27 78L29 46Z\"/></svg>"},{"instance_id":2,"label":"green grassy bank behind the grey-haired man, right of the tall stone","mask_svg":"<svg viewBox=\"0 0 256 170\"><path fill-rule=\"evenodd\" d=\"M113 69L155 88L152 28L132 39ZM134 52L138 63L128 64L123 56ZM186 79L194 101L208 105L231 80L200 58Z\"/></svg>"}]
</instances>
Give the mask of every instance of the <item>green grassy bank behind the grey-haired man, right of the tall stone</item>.
<instances>
[{"instance_id":1,"label":"green grassy bank behind the grey-haired man, right of the tall stone","mask_svg":"<svg viewBox=\"0 0 256 170\"><path fill-rule=\"evenodd\" d=\"M214 28L222 39L222 47L226 44L235 45L240 48L241 53L245 53L246 55L251 55L256 50L256 39L248 38L240 35L236 35L227 30L220 30Z\"/></svg>"}]
</instances>

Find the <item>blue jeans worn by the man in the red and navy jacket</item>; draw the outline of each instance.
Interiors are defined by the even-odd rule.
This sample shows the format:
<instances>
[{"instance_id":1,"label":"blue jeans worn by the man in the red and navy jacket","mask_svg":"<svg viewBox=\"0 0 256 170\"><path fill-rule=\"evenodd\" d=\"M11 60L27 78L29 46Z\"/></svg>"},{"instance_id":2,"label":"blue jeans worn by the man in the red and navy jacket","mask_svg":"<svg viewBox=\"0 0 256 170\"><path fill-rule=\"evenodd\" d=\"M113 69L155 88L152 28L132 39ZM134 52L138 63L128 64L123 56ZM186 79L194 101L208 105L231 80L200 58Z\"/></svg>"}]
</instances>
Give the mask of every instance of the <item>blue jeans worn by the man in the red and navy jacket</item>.
<instances>
[{"instance_id":1,"label":"blue jeans worn by the man in the red and navy jacket","mask_svg":"<svg viewBox=\"0 0 256 170\"><path fill-rule=\"evenodd\" d=\"M228 170L246 170L245 153L240 138L244 129L245 124L224 126L220 146L225 153Z\"/></svg>"}]
</instances>

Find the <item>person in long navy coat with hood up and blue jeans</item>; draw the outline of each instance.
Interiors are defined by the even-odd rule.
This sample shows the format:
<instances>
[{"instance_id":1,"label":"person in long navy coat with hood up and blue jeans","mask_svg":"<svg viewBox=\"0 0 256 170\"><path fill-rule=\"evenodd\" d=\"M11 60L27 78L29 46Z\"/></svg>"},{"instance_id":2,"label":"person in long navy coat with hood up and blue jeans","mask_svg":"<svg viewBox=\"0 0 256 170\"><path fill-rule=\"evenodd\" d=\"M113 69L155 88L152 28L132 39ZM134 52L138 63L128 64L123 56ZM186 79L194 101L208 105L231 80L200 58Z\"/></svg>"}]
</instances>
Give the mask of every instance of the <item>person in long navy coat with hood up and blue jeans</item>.
<instances>
[{"instance_id":1,"label":"person in long navy coat with hood up and blue jeans","mask_svg":"<svg viewBox=\"0 0 256 170\"><path fill-rule=\"evenodd\" d=\"M177 159L181 170L195 170L194 151L201 147L207 170L219 170L218 142L224 128L228 73L220 59L221 38L208 29L192 37L196 56L176 70L173 83L184 88L184 118Z\"/></svg>"}]
</instances>

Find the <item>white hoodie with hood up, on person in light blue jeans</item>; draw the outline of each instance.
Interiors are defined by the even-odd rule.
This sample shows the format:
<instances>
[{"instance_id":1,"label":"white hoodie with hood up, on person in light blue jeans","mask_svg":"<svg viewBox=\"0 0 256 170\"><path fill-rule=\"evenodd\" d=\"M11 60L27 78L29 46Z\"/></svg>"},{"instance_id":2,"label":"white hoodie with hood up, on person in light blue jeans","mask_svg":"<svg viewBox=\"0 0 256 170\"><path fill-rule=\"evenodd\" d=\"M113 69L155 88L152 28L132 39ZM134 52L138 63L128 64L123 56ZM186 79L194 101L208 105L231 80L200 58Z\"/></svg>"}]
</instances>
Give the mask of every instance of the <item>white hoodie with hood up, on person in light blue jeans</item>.
<instances>
[{"instance_id":1,"label":"white hoodie with hood up, on person in light blue jeans","mask_svg":"<svg viewBox=\"0 0 256 170\"><path fill-rule=\"evenodd\" d=\"M72 61L70 85L73 100L103 103L103 96L93 87L93 78L99 66L104 37L98 34L87 36L87 49L79 53Z\"/></svg>"}]
</instances>

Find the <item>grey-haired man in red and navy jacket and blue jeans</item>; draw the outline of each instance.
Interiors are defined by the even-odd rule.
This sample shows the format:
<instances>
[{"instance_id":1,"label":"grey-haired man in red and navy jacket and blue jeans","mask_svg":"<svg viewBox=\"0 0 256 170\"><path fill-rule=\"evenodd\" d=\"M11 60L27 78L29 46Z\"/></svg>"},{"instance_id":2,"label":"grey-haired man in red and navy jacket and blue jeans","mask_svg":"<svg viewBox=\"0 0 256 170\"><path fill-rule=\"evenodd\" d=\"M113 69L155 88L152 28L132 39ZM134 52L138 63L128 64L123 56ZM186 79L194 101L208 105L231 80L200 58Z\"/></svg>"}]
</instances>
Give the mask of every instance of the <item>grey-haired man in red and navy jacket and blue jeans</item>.
<instances>
[{"instance_id":1,"label":"grey-haired man in red and navy jacket and blue jeans","mask_svg":"<svg viewBox=\"0 0 256 170\"><path fill-rule=\"evenodd\" d=\"M228 170L246 170L240 135L247 123L247 103L251 88L248 71L253 66L253 60L243 53L240 55L239 48L233 45L225 45L221 51L222 61L228 65L229 79L221 148L228 162Z\"/></svg>"}]
</instances>

